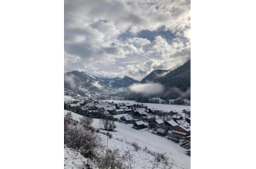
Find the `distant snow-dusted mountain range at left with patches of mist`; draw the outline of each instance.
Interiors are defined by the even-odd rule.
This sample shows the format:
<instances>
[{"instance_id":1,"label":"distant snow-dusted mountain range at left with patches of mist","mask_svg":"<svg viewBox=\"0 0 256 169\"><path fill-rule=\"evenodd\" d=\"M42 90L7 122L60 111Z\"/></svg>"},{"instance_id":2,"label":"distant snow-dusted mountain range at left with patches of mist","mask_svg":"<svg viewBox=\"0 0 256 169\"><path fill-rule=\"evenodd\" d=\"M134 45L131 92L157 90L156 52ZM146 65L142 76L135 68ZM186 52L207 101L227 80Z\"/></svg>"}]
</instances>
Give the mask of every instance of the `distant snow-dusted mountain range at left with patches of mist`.
<instances>
[{"instance_id":1,"label":"distant snow-dusted mountain range at left with patches of mist","mask_svg":"<svg viewBox=\"0 0 256 169\"><path fill-rule=\"evenodd\" d=\"M87 88L88 90L97 91L108 88L128 87L129 85L138 82L139 81L127 76L124 78L115 77L108 79L104 77L96 77L88 72L72 71L64 74L64 87L68 89L82 87Z\"/></svg>"}]
</instances>

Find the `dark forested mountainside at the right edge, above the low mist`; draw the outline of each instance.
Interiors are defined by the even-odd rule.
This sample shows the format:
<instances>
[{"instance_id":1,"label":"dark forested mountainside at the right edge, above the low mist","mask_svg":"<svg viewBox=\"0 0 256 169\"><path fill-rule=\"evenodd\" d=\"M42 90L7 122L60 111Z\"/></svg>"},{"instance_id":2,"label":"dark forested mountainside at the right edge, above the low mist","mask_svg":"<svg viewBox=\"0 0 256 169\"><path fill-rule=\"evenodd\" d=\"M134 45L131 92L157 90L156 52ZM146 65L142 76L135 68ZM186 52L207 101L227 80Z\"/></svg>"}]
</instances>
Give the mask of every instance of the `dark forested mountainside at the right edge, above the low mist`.
<instances>
[{"instance_id":1,"label":"dark forested mountainside at the right edge, above the low mist","mask_svg":"<svg viewBox=\"0 0 256 169\"><path fill-rule=\"evenodd\" d=\"M191 60L189 59L182 66L153 81L159 82L165 87L178 87L183 91L188 90L191 87Z\"/></svg>"}]
</instances>

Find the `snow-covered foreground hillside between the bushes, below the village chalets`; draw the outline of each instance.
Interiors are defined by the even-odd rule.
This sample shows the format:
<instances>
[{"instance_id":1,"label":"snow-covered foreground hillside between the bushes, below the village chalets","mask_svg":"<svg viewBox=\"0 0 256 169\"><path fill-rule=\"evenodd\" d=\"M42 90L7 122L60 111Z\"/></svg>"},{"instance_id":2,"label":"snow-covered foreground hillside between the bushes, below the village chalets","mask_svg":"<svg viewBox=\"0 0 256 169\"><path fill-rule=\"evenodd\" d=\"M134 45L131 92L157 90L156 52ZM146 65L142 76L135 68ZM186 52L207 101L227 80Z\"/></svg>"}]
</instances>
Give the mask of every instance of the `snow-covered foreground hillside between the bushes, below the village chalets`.
<instances>
[{"instance_id":1,"label":"snow-covered foreground hillside between the bushes, below the village chalets","mask_svg":"<svg viewBox=\"0 0 256 169\"><path fill-rule=\"evenodd\" d=\"M68 111L64 110L64 114ZM72 112L73 120L78 120L81 115ZM93 119L93 127L103 127L99 119ZM118 148L121 152L127 150L133 150L134 155L134 167L135 168L152 168L154 156L145 152L144 150L135 151L132 145L126 142L135 142L142 149L147 147L147 150L154 151L155 153L165 153L169 158L169 163L174 163L173 168L190 168L191 157L186 155L186 149L180 147L178 143L174 143L165 137L152 134L147 129L135 130L130 124L124 124L122 122L116 122L116 132L111 132L113 138L109 139L109 148ZM106 135L101 135L102 141L106 144ZM122 140L122 141L121 141ZM157 168L163 168L163 164L160 164Z\"/></svg>"}]
</instances>

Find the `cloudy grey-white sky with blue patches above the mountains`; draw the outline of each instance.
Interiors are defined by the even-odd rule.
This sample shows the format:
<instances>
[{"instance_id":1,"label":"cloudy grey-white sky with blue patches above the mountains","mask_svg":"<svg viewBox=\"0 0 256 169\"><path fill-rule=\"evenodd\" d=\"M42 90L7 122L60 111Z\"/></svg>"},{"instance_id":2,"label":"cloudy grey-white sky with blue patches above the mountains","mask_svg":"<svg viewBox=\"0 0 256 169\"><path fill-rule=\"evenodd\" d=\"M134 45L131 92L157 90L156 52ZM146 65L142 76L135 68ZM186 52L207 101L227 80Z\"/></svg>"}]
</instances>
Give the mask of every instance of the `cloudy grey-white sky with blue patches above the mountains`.
<instances>
[{"instance_id":1,"label":"cloudy grey-white sky with blue patches above the mountains","mask_svg":"<svg viewBox=\"0 0 256 169\"><path fill-rule=\"evenodd\" d=\"M65 0L65 72L140 80L191 57L190 0Z\"/></svg>"}]
</instances>

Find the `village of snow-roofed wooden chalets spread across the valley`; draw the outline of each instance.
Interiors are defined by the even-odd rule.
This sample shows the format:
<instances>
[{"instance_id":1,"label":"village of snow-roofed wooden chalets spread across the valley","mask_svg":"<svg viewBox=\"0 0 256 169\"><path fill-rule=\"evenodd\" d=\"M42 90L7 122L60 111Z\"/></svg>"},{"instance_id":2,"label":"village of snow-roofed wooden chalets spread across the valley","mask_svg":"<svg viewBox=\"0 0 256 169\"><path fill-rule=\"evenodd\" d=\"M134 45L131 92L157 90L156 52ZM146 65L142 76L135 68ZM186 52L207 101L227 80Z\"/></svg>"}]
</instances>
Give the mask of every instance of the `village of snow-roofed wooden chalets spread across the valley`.
<instances>
[{"instance_id":1,"label":"village of snow-roofed wooden chalets spread across the valley","mask_svg":"<svg viewBox=\"0 0 256 169\"><path fill-rule=\"evenodd\" d=\"M73 93L73 97L64 96L64 110L76 112L86 117L114 120L131 124L134 130L148 130L154 135L186 148L186 154L191 155L191 110L163 111L148 107L143 103L134 104L129 100L119 102L100 100L100 95L82 97ZM111 129L109 129L111 130Z\"/></svg>"}]
</instances>

